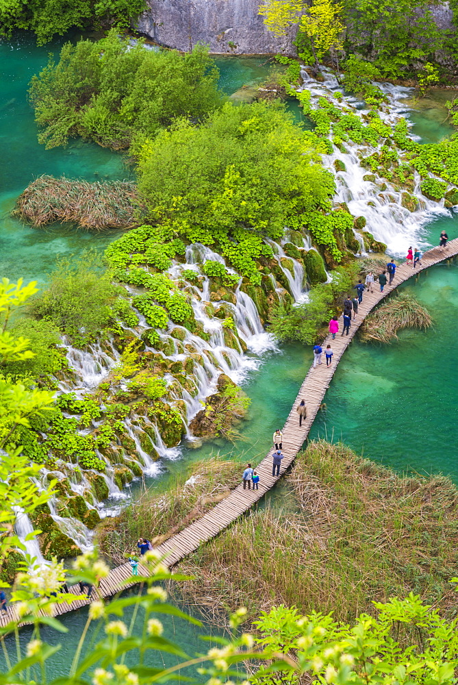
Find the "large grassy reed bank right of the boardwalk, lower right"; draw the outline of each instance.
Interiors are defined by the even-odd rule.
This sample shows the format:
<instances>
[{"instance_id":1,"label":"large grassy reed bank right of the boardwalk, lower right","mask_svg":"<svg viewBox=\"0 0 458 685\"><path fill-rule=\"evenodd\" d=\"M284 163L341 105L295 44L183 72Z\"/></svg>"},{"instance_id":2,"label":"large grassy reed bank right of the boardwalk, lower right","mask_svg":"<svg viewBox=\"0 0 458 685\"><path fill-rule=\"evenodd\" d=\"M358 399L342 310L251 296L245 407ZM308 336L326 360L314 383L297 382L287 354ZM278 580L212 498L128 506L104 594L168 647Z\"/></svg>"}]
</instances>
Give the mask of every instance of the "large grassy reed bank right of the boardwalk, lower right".
<instances>
[{"instance_id":1,"label":"large grassy reed bank right of the boardwalk, lower right","mask_svg":"<svg viewBox=\"0 0 458 685\"><path fill-rule=\"evenodd\" d=\"M349 621L410 591L444 609L458 563L458 491L400 477L342 445L311 443L288 477L296 512L253 510L179 566L184 594L213 620L283 603Z\"/></svg>"}]
</instances>

